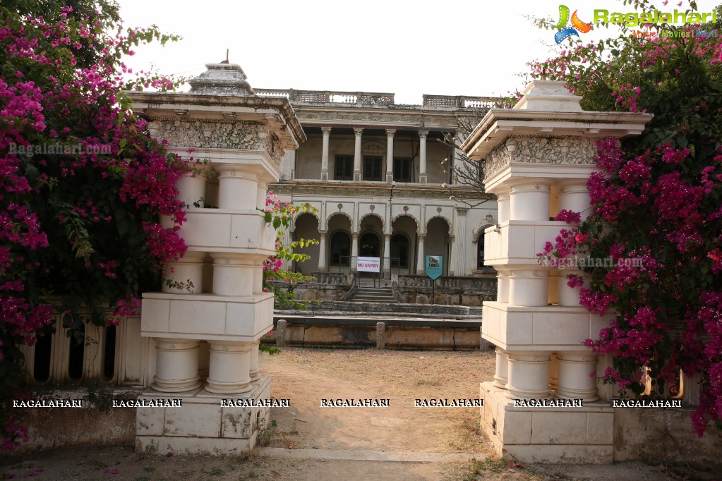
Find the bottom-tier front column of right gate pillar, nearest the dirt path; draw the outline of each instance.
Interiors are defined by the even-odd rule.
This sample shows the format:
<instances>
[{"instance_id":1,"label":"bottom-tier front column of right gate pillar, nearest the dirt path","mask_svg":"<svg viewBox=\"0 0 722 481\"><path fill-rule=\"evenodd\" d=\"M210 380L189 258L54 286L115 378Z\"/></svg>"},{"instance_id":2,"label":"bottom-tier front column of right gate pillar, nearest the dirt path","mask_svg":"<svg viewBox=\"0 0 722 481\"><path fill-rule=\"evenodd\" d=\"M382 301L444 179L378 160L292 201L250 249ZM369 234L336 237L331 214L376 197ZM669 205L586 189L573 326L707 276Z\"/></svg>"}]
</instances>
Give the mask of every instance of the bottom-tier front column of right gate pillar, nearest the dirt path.
<instances>
[{"instance_id":1,"label":"bottom-tier front column of right gate pillar, nearest the dirt path","mask_svg":"<svg viewBox=\"0 0 722 481\"><path fill-rule=\"evenodd\" d=\"M544 399L549 396L549 352L509 351L506 397Z\"/></svg>"}]
</instances>

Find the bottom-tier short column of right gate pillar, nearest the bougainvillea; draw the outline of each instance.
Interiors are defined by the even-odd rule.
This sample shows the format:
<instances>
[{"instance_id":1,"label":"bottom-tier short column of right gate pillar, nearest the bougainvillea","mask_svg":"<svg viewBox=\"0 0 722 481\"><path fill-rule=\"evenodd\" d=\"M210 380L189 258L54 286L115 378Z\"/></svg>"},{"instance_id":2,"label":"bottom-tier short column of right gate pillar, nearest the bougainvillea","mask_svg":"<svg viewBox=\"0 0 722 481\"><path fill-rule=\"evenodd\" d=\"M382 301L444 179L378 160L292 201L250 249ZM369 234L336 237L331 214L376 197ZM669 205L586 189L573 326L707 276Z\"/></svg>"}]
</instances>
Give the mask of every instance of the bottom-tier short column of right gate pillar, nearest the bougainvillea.
<instances>
[{"instance_id":1,"label":"bottom-tier short column of right gate pillar, nearest the bougainvillea","mask_svg":"<svg viewBox=\"0 0 722 481\"><path fill-rule=\"evenodd\" d=\"M571 351L557 353L559 380L556 397L593 402L599 399L596 379L589 374L596 371L596 353Z\"/></svg>"}]
</instances>

